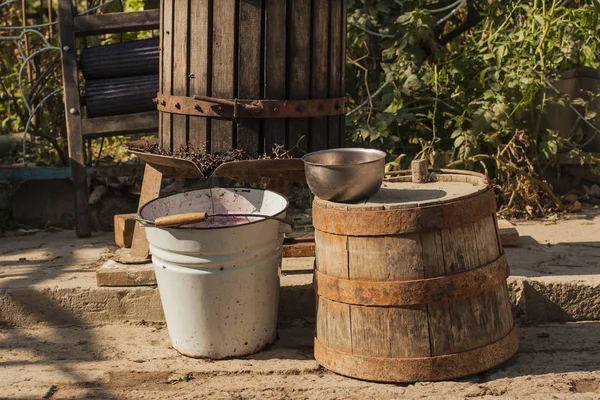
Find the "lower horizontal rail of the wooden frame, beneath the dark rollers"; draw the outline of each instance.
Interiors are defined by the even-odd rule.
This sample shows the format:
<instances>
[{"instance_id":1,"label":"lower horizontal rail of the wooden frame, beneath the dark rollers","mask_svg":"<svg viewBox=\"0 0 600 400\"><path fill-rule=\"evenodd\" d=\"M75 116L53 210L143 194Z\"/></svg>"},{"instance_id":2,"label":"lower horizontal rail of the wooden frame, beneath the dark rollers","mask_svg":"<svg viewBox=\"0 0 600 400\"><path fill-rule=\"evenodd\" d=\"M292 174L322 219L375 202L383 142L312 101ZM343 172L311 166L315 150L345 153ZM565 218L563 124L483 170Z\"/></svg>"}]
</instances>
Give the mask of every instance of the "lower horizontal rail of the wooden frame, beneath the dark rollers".
<instances>
[{"instance_id":1,"label":"lower horizontal rail of the wooden frame, beneath the dark rollers","mask_svg":"<svg viewBox=\"0 0 600 400\"><path fill-rule=\"evenodd\" d=\"M81 121L86 137L135 135L154 133L158 130L158 111L110 117L86 118Z\"/></svg>"}]
</instances>

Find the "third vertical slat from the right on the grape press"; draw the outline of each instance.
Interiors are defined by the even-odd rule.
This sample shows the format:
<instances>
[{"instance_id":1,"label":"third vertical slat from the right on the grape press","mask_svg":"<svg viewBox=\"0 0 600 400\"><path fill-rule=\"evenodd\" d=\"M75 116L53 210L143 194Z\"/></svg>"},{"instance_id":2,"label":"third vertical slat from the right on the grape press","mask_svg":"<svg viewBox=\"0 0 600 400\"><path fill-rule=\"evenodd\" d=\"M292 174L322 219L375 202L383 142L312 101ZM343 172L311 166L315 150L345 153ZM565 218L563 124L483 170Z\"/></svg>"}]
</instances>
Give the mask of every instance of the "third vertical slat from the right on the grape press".
<instances>
[{"instance_id":1,"label":"third vertical slat from the right on the grape press","mask_svg":"<svg viewBox=\"0 0 600 400\"><path fill-rule=\"evenodd\" d=\"M289 50L288 54L288 97L291 100L304 100L310 96L310 59L311 59L311 0L288 0L291 17L288 16ZM299 156L307 151L309 120L295 118L288 121L287 147L298 144ZM302 140L300 140L302 138Z\"/></svg>"}]
</instances>

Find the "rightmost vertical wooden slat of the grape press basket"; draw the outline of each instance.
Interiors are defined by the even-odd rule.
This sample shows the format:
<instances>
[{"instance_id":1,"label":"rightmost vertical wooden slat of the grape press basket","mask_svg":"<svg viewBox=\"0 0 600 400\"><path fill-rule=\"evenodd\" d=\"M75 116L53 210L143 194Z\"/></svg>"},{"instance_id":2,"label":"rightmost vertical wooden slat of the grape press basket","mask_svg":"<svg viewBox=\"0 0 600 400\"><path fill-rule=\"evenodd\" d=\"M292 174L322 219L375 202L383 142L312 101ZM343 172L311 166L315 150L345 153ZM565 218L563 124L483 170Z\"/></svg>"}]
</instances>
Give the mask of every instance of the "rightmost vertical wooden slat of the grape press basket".
<instances>
[{"instance_id":1,"label":"rightmost vertical wooden slat of the grape press basket","mask_svg":"<svg viewBox=\"0 0 600 400\"><path fill-rule=\"evenodd\" d=\"M329 22L329 97L341 97L342 88L342 63L345 57L345 46L342 41L342 24L345 23L346 10L342 8L342 0L330 0L331 12ZM329 132L327 146L340 147L340 132L343 130L343 116L328 117Z\"/></svg>"}]
</instances>

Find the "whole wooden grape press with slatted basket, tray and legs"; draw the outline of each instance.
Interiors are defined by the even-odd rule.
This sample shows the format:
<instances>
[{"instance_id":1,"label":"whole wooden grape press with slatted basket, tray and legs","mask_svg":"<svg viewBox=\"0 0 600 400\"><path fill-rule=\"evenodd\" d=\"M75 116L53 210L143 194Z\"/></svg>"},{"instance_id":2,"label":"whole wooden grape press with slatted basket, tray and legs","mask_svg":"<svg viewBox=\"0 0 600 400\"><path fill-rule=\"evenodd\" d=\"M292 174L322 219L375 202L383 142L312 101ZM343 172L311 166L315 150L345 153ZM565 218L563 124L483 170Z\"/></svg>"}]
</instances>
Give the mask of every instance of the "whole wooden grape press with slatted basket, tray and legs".
<instances>
[{"instance_id":1,"label":"whole wooden grape press with slatted basket, tray and legs","mask_svg":"<svg viewBox=\"0 0 600 400\"><path fill-rule=\"evenodd\" d=\"M345 0L161 1L160 148L257 158L276 147L299 155L342 146L345 27ZM189 160L133 152L146 161L140 206L159 195L163 175L202 177ZM299 159L227 163L214 175L280 192L304 182ZM147 256L138 225L120 261Z\"/></svg>"}]
</instances>

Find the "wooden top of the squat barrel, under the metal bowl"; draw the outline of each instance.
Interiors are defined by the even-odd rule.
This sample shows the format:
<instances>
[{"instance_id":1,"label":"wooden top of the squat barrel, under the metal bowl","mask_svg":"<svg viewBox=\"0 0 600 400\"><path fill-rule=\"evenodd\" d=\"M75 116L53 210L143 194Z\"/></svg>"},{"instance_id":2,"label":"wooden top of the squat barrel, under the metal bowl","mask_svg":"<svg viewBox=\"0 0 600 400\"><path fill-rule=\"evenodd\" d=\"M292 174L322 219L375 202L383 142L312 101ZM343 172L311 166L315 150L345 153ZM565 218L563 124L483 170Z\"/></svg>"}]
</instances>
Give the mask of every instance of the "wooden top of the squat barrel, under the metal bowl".
<instances>
[{"instance_id":1,"label":"wooden top of the squat barrel, under the metal bowl","mask_svg":"<svg viewBox=\"0 0 600 400\"><path fill-rule=\"evenodd\" d=\"M404 172L386 179L377 193L360 203L343 204L316 198L315 204L343 211L418 208L473 197L489 189L484 175L470 171L439 170L431 173L427 183L413 183L408 175L410 171Z\"/></svg>"}]
</instances>

